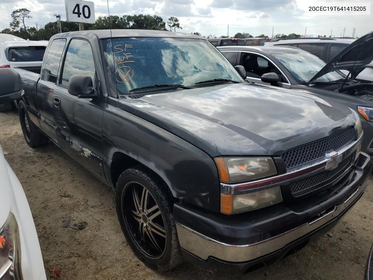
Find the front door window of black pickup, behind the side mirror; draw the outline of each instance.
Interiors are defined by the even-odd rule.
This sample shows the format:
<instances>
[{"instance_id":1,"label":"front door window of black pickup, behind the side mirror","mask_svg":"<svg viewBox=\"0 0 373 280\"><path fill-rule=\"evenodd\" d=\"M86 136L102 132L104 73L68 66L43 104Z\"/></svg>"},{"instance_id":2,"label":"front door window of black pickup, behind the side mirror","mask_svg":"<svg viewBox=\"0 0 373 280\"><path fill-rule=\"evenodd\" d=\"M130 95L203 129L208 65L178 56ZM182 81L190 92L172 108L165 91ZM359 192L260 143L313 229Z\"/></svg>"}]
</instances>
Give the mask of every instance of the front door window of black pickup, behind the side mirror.
<instances>
[{"instance_id":1,"label":"front door window of black pickup, behind the side mirror","mask_svg":"<svg viewBox=\"0 0 373 280\"><path fill-rule=\"evenodd\" d=\"M88 75L94 81L95 72L96 68L90 43L81 39L72 39L63 62L60 85L67 87L71 76L76 74Z\"/></svg>"}]
</instances>

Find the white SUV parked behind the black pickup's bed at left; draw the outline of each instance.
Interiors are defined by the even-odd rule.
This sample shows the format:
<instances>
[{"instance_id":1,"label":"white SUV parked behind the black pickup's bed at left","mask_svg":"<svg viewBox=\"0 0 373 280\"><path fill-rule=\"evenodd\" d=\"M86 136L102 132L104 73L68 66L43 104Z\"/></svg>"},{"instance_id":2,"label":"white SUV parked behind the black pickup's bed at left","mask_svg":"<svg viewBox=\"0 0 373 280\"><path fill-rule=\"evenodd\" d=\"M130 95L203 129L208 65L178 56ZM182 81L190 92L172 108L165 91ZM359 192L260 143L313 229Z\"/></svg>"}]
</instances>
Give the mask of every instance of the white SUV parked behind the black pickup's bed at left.
<instances>
[{"instance_id":1,"label":"white SUV parked behind the black pickup's bed at left","mask_svg":"<svg viewBox=\"0 0 373 280\"><path fill-rule=\"evenodd\" d=\"M18 67L40 74L47 45L48 41L29 41L0 34L0 68ZM12 107L12 103L0 105L0 112L9 111Z\"/></svg>"}]
</instances>

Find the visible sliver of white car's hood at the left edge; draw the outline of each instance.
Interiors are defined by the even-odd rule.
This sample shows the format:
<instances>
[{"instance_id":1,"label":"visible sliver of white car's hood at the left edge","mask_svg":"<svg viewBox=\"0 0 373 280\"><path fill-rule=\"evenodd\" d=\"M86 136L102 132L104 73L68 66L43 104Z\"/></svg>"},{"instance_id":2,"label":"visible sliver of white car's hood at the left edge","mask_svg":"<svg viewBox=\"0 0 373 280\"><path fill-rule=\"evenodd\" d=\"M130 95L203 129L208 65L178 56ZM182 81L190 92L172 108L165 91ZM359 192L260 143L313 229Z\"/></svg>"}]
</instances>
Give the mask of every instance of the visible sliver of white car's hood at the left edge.
<instances>
[{"instance_id":1,"label":"visible sliver of white car's hood at the left edge","mask_svg":"<svg viewBox=\"0 0 373 280\"><path fill-rule=\"evenodd\" d=\"M9 178L7 164L4 158L3 149L0 145L0 227L5 223L9 211L10 202L13 199L12 183Z\"/></svg>"}]
</instances>

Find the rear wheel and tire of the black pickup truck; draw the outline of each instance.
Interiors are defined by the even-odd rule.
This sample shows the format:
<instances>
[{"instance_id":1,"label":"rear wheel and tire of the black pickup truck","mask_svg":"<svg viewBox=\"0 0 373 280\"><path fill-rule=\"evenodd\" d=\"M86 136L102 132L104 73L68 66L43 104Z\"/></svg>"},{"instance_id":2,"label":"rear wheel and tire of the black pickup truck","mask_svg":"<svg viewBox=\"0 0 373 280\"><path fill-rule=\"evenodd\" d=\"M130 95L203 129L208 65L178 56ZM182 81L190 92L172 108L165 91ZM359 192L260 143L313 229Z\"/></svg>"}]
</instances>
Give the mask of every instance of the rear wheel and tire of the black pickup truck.
<instances>
[{"instance_id":1,"label":"rear wheel and tire of the black pickup truck","mask_svg":"<svg viewBox=\"0 0 373 280\"><path fill-rule=\"evenodd\" d=\"M30 120L25 102L18 103L19 121L23 137L30 147L40 147L48 143L48 137L45 136L39 128Z\"/></svg>"}]
</instances>

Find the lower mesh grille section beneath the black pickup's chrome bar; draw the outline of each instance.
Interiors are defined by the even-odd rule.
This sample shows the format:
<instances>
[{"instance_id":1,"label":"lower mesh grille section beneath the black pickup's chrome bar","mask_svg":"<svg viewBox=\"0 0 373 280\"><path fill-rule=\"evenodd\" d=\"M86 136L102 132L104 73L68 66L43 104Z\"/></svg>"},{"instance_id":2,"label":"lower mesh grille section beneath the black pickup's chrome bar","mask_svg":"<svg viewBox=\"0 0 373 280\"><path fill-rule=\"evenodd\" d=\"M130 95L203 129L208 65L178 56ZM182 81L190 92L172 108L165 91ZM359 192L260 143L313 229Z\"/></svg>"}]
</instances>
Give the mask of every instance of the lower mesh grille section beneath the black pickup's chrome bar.
<instances>
[{"instance_id":1,"label":"lower mesh grille section beneath the black pickup's chrome bar","mask_svg":"<svg viewBox=\"0 0 373 280\"><path fill-rule=\"evenodd\" d=\"M352 154L354 155L354 154ZM343 161L341 161L338 166L333 170L326 170L320 173L317 173L315 175L312 175L307 178L303 178L297 181L294 181L290 183L290 190L291 193L297 194L299 192L303 192L304 190L310 189L314 186L317 186L318 184L321 184L330 178L332 178L334 175L338 174L340 171L344 170L348 167L348 165L351 162L352 155L345 158Z\"/></svg>"}]
</instances>

